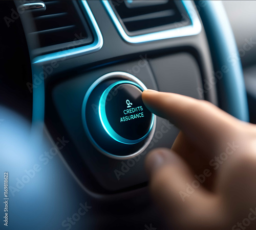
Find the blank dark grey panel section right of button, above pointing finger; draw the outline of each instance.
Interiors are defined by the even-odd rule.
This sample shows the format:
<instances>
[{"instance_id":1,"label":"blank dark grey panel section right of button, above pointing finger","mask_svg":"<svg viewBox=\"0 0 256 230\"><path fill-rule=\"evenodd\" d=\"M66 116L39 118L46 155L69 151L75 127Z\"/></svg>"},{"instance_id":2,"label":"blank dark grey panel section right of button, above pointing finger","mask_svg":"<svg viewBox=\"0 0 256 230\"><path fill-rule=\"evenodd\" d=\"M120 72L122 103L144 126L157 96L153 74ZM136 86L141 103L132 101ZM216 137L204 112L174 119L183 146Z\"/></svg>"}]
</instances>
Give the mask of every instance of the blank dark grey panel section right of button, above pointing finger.
<instances>
[{"instance_id":1,"label":"blank dark grey panel section right of button, above pointing finger","mask_svg":"<svg viewBox=\"0 0 256 230\"><path fill-rule=\"evenodd\" d=\"M198 63L189 53L178 53L152 59L152 71L158 90L203 99L202 76Z\"/></svg>"}]
</instances>

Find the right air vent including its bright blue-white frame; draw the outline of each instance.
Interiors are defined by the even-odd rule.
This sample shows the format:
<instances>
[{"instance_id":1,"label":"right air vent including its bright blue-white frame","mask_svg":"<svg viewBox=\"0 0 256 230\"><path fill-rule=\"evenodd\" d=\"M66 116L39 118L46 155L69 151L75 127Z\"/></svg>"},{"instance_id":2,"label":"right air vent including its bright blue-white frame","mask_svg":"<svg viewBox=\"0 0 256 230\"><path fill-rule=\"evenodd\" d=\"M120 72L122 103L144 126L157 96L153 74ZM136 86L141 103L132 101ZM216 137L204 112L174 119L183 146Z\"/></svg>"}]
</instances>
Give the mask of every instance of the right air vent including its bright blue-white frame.
<instances>
[{"instance_id":1,"label":"right air vent including its bright blue-white frame","mask_svg":"<svg viewBox=\"0 0 256 230\"><path fill-rule=\"evenodd\" d=\"M192 1L102 1L117 30L130 43L196 35L201 22ZM191 15L193 17L191 17Z\"/></svg>"}]
</instances>

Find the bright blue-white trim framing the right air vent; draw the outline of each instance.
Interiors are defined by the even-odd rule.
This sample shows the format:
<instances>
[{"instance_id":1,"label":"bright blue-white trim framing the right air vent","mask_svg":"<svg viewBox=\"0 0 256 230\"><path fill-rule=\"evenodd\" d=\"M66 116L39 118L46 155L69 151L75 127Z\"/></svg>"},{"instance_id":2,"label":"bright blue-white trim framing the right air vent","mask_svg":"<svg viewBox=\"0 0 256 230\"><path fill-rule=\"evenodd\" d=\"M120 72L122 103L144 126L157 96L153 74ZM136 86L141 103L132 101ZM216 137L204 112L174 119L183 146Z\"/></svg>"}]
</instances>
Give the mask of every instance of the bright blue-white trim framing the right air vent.
<instances>
[{"instance_id":1,"label":"bright blue-white trim framing the right air vent","mask_svg":"<svg viewBox=\"0 0 256 230\"><path fill-rule=\"evenodd\" d=\"M176 38L176 37L184 37L184 36L191 36L197 35L202 30L201 22L197 16L197 12L195 11L194 5L191 1L181 1L183 6L189 16L191 21L190 25L186 25L185 27L179 27L175 29L150 33L150 34L143 34L138 36L129 36L125 33L120 21L118 20L116 14L114 13L109 1L102 1L106 11L108 11L112 21L114 22L118 32L120 33L121 37L129 42L129 43L141 43L141 42L149 42L161 39L168 39L168 38Z\"/></svg>"}]
</instances>

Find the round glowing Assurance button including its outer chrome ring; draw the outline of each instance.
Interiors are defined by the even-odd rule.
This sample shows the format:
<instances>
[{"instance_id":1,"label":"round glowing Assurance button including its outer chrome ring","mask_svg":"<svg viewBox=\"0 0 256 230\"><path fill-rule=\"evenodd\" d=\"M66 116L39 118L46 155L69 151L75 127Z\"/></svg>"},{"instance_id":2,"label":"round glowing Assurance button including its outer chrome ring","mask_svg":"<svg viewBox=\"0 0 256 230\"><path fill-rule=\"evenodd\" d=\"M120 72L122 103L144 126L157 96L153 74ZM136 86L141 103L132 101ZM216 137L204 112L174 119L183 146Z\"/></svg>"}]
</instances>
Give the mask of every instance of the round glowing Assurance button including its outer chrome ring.
<instances>
[{"instance_id":1,"label":"round glowing Assurance button including its outer chrome ring","mask_svg":"<svg viewBox=\"0 0 256 230\"><path fill-rule=\"evenodd\" d=\"M113 159L138 156L150 144L156 116L143 104L145 85L130 73L110 72L87 90L82 123L92 145Z\"/></svg>"}]
</instances>

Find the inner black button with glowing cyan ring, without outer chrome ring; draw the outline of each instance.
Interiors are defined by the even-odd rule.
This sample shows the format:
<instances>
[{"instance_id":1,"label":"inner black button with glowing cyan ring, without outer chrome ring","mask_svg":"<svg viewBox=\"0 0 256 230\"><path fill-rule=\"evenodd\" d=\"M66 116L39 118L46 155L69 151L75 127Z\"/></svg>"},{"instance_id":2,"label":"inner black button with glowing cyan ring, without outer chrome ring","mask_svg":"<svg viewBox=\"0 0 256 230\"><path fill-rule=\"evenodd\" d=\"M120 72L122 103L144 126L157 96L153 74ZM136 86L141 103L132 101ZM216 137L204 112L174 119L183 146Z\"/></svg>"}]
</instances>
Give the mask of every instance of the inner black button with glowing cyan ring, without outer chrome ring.
<instances>
[{"instance_id":1,"label":"inner black button with glowing cyan ring, without outer chrome ring","mask_svg":"<svg viewBox=\"0 0 256 230\"><path fill-rule=\"evenodd\" d=\"M135 144L150 133L154 117L144 106L142 87L131 81L118 81L103 92L99 116L105 131L116 141Z\"/></svg>"}]
</instances>

